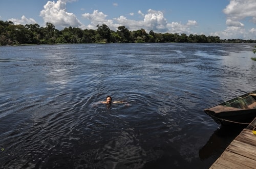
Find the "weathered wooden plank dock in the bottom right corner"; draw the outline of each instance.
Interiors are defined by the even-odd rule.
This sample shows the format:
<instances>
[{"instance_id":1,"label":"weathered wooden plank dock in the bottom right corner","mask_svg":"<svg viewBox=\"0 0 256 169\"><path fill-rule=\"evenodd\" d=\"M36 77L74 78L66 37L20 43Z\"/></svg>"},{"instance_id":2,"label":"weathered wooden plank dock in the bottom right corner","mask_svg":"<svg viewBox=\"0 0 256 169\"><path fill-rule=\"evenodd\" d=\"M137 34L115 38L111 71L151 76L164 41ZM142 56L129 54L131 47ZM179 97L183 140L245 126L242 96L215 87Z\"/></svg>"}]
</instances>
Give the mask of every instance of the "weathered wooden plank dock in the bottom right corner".
<instances>
[{"instance_id":1,"label":"weathered wooden plank dock in the bottom right corner","mask_svg":"<svg viewBox=\"0 0 256 169\"><path fill-rule=\"evenodd\" d=\"M210 166L215 168L256 168L256 118L230 143L222 155Z\"/></svg>"}]
</instances>

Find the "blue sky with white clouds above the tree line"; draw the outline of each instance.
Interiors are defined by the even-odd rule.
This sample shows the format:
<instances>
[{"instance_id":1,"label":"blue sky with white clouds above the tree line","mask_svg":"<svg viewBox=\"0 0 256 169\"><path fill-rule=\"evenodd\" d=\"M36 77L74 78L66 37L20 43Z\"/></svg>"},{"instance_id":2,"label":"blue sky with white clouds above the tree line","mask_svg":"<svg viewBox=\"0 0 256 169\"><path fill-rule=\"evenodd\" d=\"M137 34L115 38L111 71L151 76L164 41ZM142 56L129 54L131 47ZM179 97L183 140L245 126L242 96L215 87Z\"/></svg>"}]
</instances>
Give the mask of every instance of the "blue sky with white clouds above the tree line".
<instances>
[{"instance_id":1,"label":"blue sky with white clouds above the tree line","mask_svg":"<svg viewBox=\"0 0 256 169\"><path fill-rule=\"evenodd\" d=\"M1 0L0 20L40 26L51 22L58 30L96 30L106 24L113 31L125 26L147 33L256 40L256 0Z\"/></svg>"}]
</instances>

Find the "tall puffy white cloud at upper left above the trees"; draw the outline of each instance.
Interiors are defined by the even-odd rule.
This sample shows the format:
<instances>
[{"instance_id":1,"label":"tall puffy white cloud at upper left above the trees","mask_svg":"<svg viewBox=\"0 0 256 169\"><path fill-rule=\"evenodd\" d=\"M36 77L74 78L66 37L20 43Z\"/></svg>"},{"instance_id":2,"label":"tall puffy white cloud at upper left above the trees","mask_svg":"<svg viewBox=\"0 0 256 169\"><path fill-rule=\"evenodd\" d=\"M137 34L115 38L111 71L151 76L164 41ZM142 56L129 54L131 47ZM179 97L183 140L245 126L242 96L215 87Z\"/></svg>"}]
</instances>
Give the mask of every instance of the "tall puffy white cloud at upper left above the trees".
<instances>
[{"instance_id":1,"label":"tall puffy white cloud at upper left above the trees","mask_svg":"<svg viewBox=\"0 0 256 169\"><path fill-rule=\"evenodd\" d=\"M56 3L48 1L41 10L40 16L46 22L51 22L57 29L64 27L82 27L83 24L77 19L75 14L66 11L66 3L76 0L59 0Z\"/></svg>"}]
</instances>

